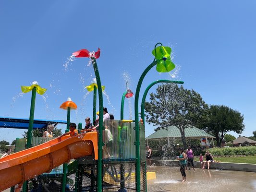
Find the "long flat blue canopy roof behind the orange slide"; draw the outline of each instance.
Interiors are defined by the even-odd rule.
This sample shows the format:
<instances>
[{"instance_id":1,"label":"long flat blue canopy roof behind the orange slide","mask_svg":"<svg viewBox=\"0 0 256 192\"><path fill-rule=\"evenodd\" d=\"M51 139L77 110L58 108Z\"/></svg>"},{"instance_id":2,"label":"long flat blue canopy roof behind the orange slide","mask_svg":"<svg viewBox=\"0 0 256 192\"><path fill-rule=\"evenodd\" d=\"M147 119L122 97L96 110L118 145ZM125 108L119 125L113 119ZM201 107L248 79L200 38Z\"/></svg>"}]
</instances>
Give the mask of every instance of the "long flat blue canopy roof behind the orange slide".
<instances>
[{"instance_id":1,"label":"long flat blue canopy roof behind the orange slide","mask_svg":"<svg viewBox=\"0 0 256 192\"><path fill-rule=\"evenodd\" d=\"M65 120L34 120L33 129L46 128L49 124L66 124ZM0 128L28 129L29 119L0 117Z\"/></svg>"}]
</instances>

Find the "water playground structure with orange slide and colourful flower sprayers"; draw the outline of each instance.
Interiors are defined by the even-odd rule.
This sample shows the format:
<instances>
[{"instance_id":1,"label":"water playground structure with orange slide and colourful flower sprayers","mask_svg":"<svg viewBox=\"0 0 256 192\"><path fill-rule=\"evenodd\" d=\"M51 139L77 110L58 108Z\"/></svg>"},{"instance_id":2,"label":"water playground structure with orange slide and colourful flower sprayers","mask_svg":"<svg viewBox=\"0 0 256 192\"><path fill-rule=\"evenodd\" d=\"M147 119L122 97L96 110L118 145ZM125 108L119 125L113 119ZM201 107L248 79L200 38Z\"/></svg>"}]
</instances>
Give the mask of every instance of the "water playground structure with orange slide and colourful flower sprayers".
<instances>
[{"instance_id":1,"label":"water playground structure with orange slide and colourful flower sprayers","mask_svg":"<svg viewBox=\"0 0 256 192\"><path fill-rule=\"evenodd\" d=\"M160 46L157 47L158 44ZM139 92L146 73L155 65L157 65L158 72L169 72L175 67L170 58L171 48L163 47L161 43L158 44L152 51L155 59L142 73L137 84L134 102L135 120L123 120L124 96L130 97L133 94L131 90L127 90L122 96L121 120L103 122L102 89L104 86L101 86L96 62L100 56L100 49L95 53L86 49L73 53L75 57L88 57L92 61L97 84L89 86L91 86L91 91L94 91L93 120L96 119L98 89L99 126L97 132L86 132L74 137L64 136L31 147L36 92L43 94L46 90L37 84L25 87L26 92L32 90L27 149L0 159L0 178L3 178L0 180L0 191L12 187L12 191L16 192L21 188L23 192L41 190L47 192L50 190L54 192L146 192L144 118L146 94L149 88L156 83L183 84L182 81L169 80L159 80L150 84L142 99L142 121L139 121ZM66 132L70 123L70 110L76 108L70 103L68 102L67 106L63 107L68 112ZM79 123L78 130L81 128L82 124ZM72 159L76 160L67 165ZM62 173L52 170L53 168L61 169L59 167L61 164L63 164Z\"/></svg>"}]
</instances>

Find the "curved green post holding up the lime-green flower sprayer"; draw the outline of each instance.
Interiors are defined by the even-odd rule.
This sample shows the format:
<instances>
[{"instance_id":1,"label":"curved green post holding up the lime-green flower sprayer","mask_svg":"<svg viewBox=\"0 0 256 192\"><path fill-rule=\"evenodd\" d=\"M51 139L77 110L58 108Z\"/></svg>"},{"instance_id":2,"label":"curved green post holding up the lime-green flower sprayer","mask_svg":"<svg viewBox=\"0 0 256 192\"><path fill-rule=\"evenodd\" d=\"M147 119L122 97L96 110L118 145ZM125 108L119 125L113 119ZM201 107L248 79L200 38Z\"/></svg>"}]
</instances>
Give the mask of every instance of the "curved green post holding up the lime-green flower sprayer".
<instances>
[{"instance_id":1,"label":"curved green post holding up the lime-green flower sprayer","mask_svg":"<svg viewBox=\"0 0 256 192\"><path fill-rule=\"evenodd\" d=\"M136 179L136 192L140 192L140 130L139 130L139 93L142 81L146 76L146 73L157 64L156 59L146 68L146 70L141 74L139 82L137 84L136 93L135 93L135 102L134 102L134 114L135 114L135 134L136 134L136 170L135 170L135 179Z\"/></svg>"}]
</instances>

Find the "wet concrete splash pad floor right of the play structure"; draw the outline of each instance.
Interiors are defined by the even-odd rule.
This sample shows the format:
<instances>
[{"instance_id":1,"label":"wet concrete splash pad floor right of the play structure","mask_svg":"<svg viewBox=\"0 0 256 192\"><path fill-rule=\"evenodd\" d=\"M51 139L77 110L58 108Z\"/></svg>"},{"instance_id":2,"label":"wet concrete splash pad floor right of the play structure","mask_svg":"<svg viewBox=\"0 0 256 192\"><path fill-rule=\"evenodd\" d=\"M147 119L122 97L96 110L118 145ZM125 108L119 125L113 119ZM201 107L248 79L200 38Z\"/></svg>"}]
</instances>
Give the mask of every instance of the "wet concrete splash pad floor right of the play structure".
<instances>
[{"instance_id":1,"label":"wet concrete splash pad floor right of the play structure","mask_svg":"<svg viewBox=\"0 0 256 192\"><path fill-rule=\"evenodd\" d=\"M256 173L216 169L186 170L187 180L181 182L180 168L152 166L157 179L147 181L148 192L256 192Z\"/></svg>"}]
</instances>

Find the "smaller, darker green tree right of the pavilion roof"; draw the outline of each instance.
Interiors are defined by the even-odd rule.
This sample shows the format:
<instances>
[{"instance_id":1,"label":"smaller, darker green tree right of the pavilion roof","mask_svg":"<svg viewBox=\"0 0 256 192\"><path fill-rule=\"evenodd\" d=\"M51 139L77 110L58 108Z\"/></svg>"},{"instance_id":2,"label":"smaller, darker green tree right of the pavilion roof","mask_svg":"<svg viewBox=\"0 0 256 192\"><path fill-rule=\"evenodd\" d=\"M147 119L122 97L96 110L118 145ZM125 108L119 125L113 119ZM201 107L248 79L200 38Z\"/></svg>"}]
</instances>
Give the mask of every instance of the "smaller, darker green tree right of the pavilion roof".
<instances>
[{"instance_id":1,"label":"smaller, darker green tree right of the pavilion roof","mask_svg":"<svg viewBox=\"0 0 256 192\"><path fill-rule=\"evenodd\" d=\"M244 131L244 115L239 111L223 105L212 105L207 111L207 121L203 122L201 128L216 137L218 146L227 132L241 134Z\"/></svg>"}]
</instances>

